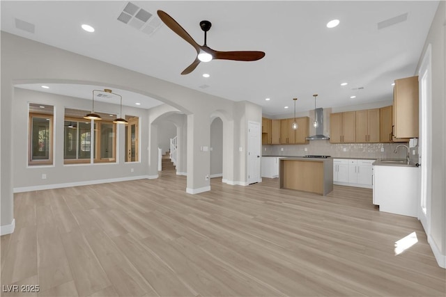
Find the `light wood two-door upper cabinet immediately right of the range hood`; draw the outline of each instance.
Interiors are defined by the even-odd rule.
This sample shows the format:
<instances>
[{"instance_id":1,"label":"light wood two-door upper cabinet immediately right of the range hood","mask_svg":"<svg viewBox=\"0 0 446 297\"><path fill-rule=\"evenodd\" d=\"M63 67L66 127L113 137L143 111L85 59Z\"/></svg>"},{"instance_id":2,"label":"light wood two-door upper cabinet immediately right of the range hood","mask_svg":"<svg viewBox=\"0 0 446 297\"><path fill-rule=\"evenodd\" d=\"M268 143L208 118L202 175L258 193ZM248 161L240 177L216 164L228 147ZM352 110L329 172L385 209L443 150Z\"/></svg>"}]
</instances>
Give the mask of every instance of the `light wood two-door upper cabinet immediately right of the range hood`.
<instances>
[{"instance_id":1,"label":"light wood two-door upper cabinet immediately right of the range hood","mask_svg":"<svg viewBox=\"0 0 446 297\"><path fill-rule=\"evenodd\" d=\"M330 143L354 143L356 112L330 113Z\"/></svg>"}]
</instances>

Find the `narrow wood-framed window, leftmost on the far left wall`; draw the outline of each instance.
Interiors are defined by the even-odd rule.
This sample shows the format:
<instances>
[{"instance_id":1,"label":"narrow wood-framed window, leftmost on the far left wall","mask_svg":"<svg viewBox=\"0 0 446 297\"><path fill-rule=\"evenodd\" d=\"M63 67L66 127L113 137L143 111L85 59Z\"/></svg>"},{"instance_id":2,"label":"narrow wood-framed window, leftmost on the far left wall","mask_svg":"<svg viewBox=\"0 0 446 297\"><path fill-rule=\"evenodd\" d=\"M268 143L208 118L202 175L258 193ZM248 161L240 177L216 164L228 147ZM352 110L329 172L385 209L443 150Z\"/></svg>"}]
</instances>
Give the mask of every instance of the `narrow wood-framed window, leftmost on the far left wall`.
<instances>
[{"instance_id":1,"label":"narrow wood-framed window, leftmost on the far left wall","mask_svg":"<svg viewBox=\"0 0 446 297\"><path fill-rule=\"evenodd\" d=\"M28 165L53 163L53 113L53 106L29 104Z\"/></svg>"}]
</instances>

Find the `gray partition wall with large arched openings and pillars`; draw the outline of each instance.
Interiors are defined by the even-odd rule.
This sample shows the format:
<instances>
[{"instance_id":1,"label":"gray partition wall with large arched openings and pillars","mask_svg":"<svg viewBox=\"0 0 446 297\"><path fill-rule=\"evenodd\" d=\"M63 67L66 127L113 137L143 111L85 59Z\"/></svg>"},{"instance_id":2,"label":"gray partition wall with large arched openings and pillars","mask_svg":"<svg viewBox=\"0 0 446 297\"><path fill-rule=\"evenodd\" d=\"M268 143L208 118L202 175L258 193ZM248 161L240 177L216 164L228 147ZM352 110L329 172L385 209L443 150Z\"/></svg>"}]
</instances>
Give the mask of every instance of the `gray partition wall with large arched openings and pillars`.
<instances>
[{"instance_id":1,"label":"gray partition wall with large arched openings and pillars","mask_svg":"<svg viewBox=\"0 0 446 297\"><path fill-rule=\"evenodd\" d=\"M210 181L204 178L210 174L209 152L201 152L200 147L210 146L211 115L218 112L224 116L224 158L226 158L223 168L224 180L228 183L247 182L245 170L247 158L239 158L232 150L228 150L228 147L245 147L247 117L244 113L238 112L239 102L201 93L93 58L1 32L1 226L8 226L13 222L13 182L16 182L13 159L16 153L13 149L11 123L15 100L14 86L20 83L80 83L118 88L153 97L170 106L170 111L184 113L187 115L187 131L184 135L187 135L185 167L187 167L186 190L189 193L199 193L210 189ZM248 118L256 118L257 122L261 122L260 106L256 104L252 106L255 107L248 108L250 114ZM166 110L166 112L170 111ZM146 131L148 160L145 172L149 176L156 177L157 130L152 129L151 123L160 115L152 118L150 113L146 114L148 115L148 131ZM141 146L141 152L143 150L145 148ZM107 165L104 165L104 168ZM82 176L85 171L81 169L82 166L72 168L76 176ZM54 170L54 168L49 170ZM94 176L95 179L108 178L104 172L96 173L98 175ZM51 176L56 174L55 171L48 172Z\"/></svg>"}]
</instances>

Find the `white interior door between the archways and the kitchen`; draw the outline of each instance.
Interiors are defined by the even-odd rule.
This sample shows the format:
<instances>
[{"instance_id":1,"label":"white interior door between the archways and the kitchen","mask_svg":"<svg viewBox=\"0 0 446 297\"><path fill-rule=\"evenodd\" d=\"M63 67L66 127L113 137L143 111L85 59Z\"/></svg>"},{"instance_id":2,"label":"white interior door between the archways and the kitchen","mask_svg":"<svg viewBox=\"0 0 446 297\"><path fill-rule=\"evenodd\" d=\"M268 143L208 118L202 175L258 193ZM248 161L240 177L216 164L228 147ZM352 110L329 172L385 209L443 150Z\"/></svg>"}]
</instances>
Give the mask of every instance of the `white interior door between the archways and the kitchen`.
<instances>
[{"instance_id":1,"label":"white interior door between the archways and the kitchen","mask_svg":"<svg viewBox=\"0 0 446 297\"><path fill-rule=\"evenodd\" d=\"M260 123L248 122L248 184L260 182Z\"/></svg>"}]
</instances>

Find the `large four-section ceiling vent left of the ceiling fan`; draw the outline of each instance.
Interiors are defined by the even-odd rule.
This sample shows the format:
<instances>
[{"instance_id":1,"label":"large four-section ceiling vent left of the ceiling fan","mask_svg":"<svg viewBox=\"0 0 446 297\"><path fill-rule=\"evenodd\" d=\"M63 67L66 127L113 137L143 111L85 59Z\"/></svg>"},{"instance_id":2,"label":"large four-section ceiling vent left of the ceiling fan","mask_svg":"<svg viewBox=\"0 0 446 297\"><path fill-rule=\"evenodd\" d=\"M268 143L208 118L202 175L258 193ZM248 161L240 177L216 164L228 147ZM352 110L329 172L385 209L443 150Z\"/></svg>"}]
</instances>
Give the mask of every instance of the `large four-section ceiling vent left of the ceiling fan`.
<instances>
[{"instance_id":1,"label":"large four-section ceiling vent left of the ceiling fan","mask_svg":"<svg viewBox=\"0 0 446 297\"><path fill-rule=\"evenodd\" d=\"M132 2L127 3L121 14L118 16L118 21L128 24L134 29L148 35L155 33L155 31L162 25L159 17L149 13L147 10L140 8Z\"/></svg>"}]
</instances>

